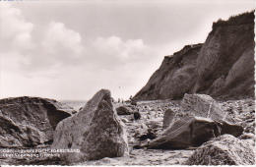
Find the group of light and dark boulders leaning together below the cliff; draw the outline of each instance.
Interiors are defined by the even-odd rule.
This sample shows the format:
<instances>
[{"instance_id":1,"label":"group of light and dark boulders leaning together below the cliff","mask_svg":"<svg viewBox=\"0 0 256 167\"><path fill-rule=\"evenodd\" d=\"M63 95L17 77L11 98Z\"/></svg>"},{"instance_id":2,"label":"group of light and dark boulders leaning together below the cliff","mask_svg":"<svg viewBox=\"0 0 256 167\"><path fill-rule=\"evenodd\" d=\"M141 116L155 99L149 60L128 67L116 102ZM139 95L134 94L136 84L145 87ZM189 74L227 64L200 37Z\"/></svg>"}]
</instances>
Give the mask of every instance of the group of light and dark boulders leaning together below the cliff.
<instances>
[{"instance_id":1,"label":"group of light and dark boulders leaning together below the cliff","mask_svg":"<svg viewBox=\"0 0 256 167\"><path fill-rule=\"evenodd\" d=\"M165 113L164 131L160 137L141 147L184 149L200 146L209 139L224 134L239 137L243 133L243 128L236 125L216 101L206 94L185 94L179 113L169 110Z\"/></svg>"}]
</instances>

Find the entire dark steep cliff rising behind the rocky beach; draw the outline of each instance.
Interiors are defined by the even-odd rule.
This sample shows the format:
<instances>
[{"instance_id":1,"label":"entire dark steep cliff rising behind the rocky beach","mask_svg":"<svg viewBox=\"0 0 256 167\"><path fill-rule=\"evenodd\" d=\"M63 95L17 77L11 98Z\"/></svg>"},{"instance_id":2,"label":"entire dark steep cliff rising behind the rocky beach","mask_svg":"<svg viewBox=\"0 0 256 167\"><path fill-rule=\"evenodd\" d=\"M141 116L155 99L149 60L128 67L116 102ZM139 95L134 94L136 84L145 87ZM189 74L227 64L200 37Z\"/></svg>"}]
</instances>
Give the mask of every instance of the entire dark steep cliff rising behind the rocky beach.
<instances>
[{"instance_id":1,"label":"entire dark steep cliff rising behind the rocky beach","mask_svg":"<svg viewBox=\"0 0 256 167\"><path fill-rule=\"evenodd\" d=\"M254 96L254 13L213 24L204 44L165 56L137 100L179 99L184 93L215 97Z\"/></svg>"}]
</instances>

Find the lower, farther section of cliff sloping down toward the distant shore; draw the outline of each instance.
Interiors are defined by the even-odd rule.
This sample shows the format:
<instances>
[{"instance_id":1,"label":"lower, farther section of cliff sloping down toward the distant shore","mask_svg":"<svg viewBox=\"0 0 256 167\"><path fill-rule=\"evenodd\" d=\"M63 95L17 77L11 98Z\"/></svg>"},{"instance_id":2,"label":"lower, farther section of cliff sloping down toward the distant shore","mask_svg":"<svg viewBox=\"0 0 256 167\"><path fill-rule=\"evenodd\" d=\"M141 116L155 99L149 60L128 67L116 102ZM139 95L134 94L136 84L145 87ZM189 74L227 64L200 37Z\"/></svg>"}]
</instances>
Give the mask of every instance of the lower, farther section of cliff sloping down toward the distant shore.
<instances>
[{"instance_id":1,"label":"lower, farther section of cliff sloping down toward the distant shore","mask_svg":"<svg viewBox=\"0 0 256 167\"><path fill-rule=\"evenodd\" d=\"M190 88L189 81L195 71L202 44L186 45L179 52L165 56L160 69L136 94L136 99L182 98Z\"/></svg>"}]
</instances>

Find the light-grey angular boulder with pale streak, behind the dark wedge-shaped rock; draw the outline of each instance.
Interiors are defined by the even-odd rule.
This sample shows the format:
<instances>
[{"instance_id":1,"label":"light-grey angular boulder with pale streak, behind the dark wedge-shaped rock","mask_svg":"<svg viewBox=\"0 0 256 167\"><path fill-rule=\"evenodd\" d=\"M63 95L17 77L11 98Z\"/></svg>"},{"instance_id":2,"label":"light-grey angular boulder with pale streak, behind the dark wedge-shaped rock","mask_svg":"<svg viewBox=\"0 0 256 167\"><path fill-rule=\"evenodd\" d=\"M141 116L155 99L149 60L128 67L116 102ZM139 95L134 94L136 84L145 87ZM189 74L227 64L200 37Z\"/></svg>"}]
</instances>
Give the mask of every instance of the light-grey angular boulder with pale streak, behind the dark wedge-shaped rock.
<instances>
[{"instance_id":1,"label":"light-grey angular boulder with pale streak, behind the dark wedge-shaped rock","mask_svg":"<svg viewBox=\"0 0 256 167\"><path fill-rule=\"evenodd\" d=\"M207 94L185 94L180 103L181 113L185 117L197 116L211 118L214 121L235 124L227 112L217 104L215 99Z\"/></svg>"}]
</instances>

